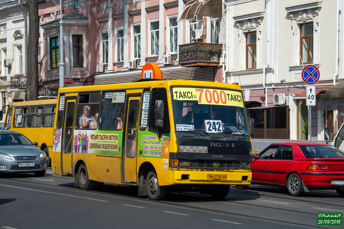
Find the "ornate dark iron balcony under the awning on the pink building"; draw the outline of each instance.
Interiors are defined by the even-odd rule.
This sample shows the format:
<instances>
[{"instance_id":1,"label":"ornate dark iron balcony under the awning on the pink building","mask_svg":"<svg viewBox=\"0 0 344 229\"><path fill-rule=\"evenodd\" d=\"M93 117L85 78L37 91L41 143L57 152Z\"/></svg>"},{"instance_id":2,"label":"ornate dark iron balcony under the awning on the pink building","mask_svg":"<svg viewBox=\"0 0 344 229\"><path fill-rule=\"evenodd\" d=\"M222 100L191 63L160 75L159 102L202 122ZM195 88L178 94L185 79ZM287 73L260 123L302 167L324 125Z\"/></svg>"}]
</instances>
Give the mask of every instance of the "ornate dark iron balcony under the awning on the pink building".
<instances>
[{"instance_id":1,"label":"ornate dark iron balcony under the awning on the pink building","mask_svg":"<svg viewBox=\"0 0 344 229\"><path fill-rule=\"evenodd\" d=\"M222 44L194 42L179 45L179 63L184 67L218 66Z\"/></svg>"}]
</instances>

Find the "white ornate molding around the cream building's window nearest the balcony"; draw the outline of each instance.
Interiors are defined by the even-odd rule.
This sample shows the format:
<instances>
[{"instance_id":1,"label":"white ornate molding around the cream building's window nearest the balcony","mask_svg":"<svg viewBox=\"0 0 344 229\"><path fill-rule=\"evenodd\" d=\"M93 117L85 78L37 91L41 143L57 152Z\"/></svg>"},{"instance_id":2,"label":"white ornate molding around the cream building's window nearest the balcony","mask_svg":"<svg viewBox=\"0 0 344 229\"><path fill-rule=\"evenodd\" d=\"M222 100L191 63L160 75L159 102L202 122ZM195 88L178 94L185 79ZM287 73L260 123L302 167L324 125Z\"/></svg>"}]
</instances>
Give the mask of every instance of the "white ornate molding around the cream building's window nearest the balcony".
<instances>
[{"instance_id":1,"label":"white ornate molding around the cream building's window nearest the balcony","mask_svg":"<svg viewBox=\"0 0 344 229\"><path fill-rule=\"evenodd\" d=\"M257 51L256 51L256 69L262 68L262 41L261 23L264 19L265 12L257 12L246 15L233 17L238 29L238 43L239 43L239 70L246 70L246 33L257 31Z\"/></svg>"}]
</instances>

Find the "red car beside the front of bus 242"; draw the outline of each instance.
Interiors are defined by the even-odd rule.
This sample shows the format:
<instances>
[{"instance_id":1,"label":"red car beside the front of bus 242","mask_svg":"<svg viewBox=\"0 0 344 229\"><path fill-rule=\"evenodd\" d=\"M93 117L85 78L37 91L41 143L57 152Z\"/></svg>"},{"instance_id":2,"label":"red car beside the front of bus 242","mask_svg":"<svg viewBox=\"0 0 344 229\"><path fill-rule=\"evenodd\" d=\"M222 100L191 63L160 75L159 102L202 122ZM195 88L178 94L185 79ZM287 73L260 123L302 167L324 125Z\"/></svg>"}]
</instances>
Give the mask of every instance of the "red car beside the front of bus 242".
<instances>
[{"instance_id":1,"label":"red car beside the front of bus 242","mask_svg":"<svg viewBox=\"0 0 344 229\"><path fill-rule=\"evenodd\" d=\"M254 154L251 184L286 187L292 196L336 189L344 196L344 152L322 143L274 143Z\"/></svg>"}]
</instances>

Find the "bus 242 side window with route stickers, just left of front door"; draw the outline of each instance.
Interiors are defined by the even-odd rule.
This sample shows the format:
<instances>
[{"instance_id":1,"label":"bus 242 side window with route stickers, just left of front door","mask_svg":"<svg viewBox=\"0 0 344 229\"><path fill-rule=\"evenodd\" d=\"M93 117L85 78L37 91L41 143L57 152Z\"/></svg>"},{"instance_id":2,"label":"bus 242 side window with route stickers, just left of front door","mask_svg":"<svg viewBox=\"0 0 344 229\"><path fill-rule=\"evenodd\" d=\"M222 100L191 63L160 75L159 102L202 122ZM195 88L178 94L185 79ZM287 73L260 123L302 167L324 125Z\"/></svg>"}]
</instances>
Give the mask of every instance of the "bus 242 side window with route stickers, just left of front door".
<instances>
[{"instance_id":1,"label":"bus 242 side window with route stickers, just left of front door","mask_svg":"<svg viewBox=\"0 0 344 229\"><path fill-rule=\"evenodd\" d=\"M122 129L125 98L125 91L103 92L101 94L99 129Z\"/></svg>"}]
</instances>

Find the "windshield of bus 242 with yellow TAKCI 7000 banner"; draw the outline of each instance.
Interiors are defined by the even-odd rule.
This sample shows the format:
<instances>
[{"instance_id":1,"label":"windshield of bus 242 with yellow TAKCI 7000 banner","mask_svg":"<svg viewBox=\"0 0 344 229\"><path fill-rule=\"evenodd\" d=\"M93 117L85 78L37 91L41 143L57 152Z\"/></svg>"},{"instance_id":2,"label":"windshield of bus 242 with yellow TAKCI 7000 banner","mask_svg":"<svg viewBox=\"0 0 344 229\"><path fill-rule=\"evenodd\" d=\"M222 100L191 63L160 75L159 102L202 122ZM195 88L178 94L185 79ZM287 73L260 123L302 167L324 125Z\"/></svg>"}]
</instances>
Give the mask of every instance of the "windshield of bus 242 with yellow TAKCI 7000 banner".
<instances>
[{"instance_id":1,"label":"windshield of bus 242 with yellow TAKCI 7000 banner","mask_svg":"<svg viewBox=\"0 0 344 229\"><path fill-rule=\"evenodd\" d=\"M238 91L174 87L173 110L176 131L249 134Z\"/></svg>"}]
</instances>

